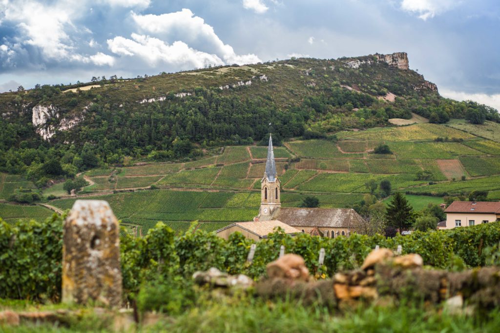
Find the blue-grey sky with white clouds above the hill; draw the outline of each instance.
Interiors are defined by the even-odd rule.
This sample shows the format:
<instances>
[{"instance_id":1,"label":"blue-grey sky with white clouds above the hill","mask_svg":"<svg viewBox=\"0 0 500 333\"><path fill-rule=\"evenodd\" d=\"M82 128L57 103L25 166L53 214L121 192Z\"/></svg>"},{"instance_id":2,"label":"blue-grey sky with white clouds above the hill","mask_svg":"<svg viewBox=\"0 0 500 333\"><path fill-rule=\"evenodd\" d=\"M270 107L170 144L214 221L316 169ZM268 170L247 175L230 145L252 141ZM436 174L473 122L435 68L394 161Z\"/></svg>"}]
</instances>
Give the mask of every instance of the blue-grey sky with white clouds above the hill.
<instances>
[{"instance_id":1,"label":"blue-grey sky with white clouds above the hill","mask_svg":"<svg viewBox=\"0 0 500 333\"><path fill-rule=\"evenodd\" d=\"M405 51L500 110L499 0L0 0L0 92L291 56Z\"/></svg>"}]
</instances>

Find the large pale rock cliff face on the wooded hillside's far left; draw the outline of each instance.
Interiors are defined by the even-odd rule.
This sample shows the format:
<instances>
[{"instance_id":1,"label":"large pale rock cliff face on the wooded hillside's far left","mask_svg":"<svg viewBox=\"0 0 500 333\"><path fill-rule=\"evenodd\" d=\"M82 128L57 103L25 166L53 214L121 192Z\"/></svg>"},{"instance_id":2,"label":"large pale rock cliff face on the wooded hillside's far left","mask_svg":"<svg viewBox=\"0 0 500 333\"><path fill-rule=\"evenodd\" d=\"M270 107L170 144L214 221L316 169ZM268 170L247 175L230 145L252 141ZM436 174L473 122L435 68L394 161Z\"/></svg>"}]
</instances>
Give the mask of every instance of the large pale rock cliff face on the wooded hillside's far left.
<instances>
[{"instance_id":1,"label":"large pale rock cliff face on the wooded hillside's far left","mask_svg":"<svg viewBox=\"0 0 500 333\"><path fill-rule=\"evenodd\" d=\"M88 106L85 107L83 111L87 108ZM43 140L50 139L55 134L56 130L67 131L83 120L83 115L60 118L59 109L53 105L42 106L38 104L33 107L32 112L31 123L33 127L36 128L36 133L38 133ZM57 125L53 124L54 119L58 120L56 121L58 122ZM49 120L51 120L51 123L47 125Z\"/></svg>"}]
</instances>

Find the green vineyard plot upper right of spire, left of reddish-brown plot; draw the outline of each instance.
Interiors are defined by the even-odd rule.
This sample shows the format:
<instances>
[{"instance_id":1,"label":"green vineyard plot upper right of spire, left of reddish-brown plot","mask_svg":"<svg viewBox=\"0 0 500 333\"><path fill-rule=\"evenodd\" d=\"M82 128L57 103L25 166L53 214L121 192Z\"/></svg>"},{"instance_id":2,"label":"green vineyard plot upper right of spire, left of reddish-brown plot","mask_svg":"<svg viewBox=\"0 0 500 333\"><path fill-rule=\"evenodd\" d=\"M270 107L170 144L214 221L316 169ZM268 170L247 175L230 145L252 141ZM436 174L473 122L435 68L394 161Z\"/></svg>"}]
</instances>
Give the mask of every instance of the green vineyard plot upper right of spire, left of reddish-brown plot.
<instances>
[{"instance_id":1,"label":"green vineyard plot upper right of spire, left of reddish-brown plot","mask_svg":"<svg viewBox=\"0 0 500 333\"><path fill-rule=\"evenodd\" d=\"M300 157L314 157L324 159L349 159L349 158L362 158L363 154L343 154L341 153L336 144L326 140L305 140L305 141L291 141L286 145L296 155Z\"/></svg>"}]
</instances>

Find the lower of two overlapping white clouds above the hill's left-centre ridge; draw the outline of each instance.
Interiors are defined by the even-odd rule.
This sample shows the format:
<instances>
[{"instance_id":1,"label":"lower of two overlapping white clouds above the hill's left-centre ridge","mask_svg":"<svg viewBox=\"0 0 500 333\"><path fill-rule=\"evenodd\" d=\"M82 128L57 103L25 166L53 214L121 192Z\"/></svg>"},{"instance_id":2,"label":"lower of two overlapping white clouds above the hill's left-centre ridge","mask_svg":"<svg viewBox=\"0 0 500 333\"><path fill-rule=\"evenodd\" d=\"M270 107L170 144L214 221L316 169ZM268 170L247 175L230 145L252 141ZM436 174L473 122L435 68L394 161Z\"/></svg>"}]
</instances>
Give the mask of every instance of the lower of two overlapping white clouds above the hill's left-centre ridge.
<instances>
[{"instance_id":1,"label":"lower of two overlapping white clouds above the hill's left-centre ridge","mask_svg":"<svg viewBox=\"0 0 500 333\"><path fill-rule=\"evenodd\" d=\"M132 33L131 38L118 36L108 39L107 44L111 52L121 56L137 56L151 67L161 62L191 68L224 64L215 54L194 50L182 41L168 45L158 38L136 33Z\"/></svg>"}]
</instances>

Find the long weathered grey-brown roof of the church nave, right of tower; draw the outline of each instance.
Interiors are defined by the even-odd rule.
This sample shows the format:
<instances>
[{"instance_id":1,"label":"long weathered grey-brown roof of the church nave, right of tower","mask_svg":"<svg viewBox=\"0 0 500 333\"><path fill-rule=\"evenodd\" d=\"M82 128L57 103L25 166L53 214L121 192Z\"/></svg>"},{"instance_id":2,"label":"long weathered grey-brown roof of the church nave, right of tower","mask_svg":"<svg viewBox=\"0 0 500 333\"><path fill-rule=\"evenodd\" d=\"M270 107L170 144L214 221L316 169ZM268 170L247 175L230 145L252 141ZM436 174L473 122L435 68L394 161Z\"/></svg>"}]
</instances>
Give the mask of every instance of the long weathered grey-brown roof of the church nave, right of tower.
<instances>
[{"instance_id":1,"label":"long weathered grey-brown roof of the church nave, right of tower","mask_svg":"<svg viewBox=\"0 0 500 333\"><path fill-rule=\"evenodd\" d=\"M278 208L272 218L292 227L356 229L363 222L356 211L343 208Z\"/></svg>"}]
</instances>

